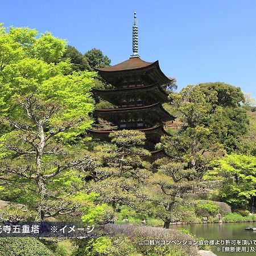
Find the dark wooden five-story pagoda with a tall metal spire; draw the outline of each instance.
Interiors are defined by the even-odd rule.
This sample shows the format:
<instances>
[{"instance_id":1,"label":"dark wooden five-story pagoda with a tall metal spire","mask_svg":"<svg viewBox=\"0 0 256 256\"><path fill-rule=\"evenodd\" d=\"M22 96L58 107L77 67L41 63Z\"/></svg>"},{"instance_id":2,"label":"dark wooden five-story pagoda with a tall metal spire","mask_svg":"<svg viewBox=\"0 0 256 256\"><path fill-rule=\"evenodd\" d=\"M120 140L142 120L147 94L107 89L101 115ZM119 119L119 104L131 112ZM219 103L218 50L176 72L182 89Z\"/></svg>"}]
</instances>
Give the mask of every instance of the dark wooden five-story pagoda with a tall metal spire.
<instances>
[{"instance_id":1,"label":"dark wooden five-story pagoda with a tall metal spire","mask_svg":"<svg viewBox=\"0 0 256 256\"><path fill-rule=\"evenodd\" d=\"M155 144L162 135L168 134L163 123L173 121L174 116L164 110L162 103L168 101L168 94L162 85L173 84L174 79L164 75L158 61L141 60L138 55L138 27L136 13L133 24L133 55L130 59L107 68L96 68L99 75L114 89L93 89L102 99L118 108L96 109L94 115L114 123L118 129L136 129L146 134L145 148L152 155L166 155L163 150L155 151ZM94 138L108 141L112 130L89 130Z\"/></svg>"}]
</instances>

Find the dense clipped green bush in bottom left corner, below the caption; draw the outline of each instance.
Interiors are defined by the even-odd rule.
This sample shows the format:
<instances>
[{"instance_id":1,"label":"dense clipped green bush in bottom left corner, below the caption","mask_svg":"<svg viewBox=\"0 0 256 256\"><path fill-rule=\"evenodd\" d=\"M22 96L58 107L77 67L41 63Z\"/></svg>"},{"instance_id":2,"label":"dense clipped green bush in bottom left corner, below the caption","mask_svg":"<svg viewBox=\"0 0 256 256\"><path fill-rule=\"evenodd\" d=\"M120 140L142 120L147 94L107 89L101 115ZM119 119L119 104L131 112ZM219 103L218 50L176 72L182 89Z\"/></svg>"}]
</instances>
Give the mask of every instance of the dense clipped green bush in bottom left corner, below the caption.
<instances>
[{"instance_id":1,"label":"dense clipped green bush in bottom left corner, below the caption","mask_svg":"<svg viewBox=\"0 0 256 256\"><path fill-rule=\"evenodd\" d=\"M53 251L34 237L1 237L1 256L53 256Z\"/></svg>"}]
</instances>

